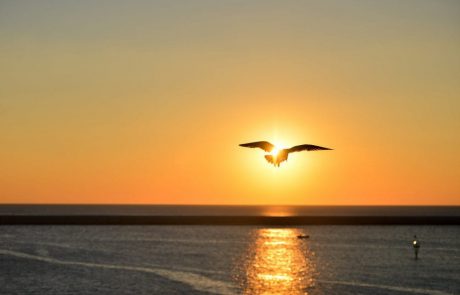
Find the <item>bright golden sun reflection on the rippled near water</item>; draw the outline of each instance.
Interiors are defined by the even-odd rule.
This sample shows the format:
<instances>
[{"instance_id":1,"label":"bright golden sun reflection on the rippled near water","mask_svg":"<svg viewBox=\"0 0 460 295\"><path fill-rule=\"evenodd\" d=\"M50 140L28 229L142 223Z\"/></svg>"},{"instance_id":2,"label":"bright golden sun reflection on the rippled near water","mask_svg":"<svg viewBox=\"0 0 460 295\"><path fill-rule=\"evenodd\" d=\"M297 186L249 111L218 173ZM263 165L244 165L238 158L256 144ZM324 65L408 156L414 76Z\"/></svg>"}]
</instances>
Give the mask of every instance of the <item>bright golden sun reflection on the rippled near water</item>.
<instances>
[{"instance_id":1,"label":"bright golden sun reflection on the rippled near water","mask_svg":"<svg viewBox=\"0 0 460 295\"><path fill-rule=\"evenodd\" d=\"M246 261L245 294L308 294L313 255L297 229L259 229Z\"/></svg>"}]
</instances>

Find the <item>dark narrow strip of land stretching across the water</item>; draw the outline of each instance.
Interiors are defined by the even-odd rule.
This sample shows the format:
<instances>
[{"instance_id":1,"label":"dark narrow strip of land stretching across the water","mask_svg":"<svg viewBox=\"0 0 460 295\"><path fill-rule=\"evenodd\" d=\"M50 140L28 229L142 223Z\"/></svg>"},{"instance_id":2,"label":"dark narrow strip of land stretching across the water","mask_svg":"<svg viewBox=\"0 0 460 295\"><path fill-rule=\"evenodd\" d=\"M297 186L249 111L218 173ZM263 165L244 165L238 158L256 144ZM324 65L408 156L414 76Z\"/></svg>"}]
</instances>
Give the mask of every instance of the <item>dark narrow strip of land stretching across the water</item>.
<instances>
[{"instance_id":1,"label":"dark narrow strip of land stretching across the water","mask_svg":"<svg viewBox=\"0 0 460 295\"><path fill-rule=\"evenodd\" d=\"M460 225L460 216L3 215L0 225Z\"/></svg>"}]
</instances>

